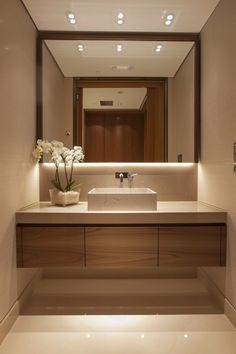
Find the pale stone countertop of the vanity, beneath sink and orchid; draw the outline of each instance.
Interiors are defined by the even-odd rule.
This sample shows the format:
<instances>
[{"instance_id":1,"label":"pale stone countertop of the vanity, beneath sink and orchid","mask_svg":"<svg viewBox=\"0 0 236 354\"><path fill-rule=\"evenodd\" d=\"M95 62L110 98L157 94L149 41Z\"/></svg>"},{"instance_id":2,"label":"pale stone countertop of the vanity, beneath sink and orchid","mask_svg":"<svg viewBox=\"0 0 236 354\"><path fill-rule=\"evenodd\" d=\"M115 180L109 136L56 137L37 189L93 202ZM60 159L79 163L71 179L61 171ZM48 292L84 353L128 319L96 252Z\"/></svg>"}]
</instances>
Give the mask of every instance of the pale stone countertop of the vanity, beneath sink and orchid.
<instances>
[{"instance_id":1,"label":"pale stone countertop of the vanity, beneath sink and orchid","mask_svg":"<svg viewBox=\"0 0 236 354\"><path fill-rule=\"evenodd\" d=\"M66 207L39 202L16 212L17 224L226 223L226 211L196 201L158 202L156 211L88 211L87 202Z\"/></svg>"}]
</instances>

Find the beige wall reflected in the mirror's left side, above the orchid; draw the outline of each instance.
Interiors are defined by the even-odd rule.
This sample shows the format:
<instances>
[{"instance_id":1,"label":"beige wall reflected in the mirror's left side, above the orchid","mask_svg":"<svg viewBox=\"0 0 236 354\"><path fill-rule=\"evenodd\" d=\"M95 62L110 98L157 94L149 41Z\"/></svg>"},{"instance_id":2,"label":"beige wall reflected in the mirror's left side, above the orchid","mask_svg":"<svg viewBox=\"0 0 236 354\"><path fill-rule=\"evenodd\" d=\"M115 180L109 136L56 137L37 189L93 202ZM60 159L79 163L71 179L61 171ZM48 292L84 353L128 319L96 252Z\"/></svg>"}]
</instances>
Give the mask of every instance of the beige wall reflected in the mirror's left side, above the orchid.
<instances>
[{"instance_id":1,"label":"beige wall reflected in the mirror's left side, above the orchid","mask_svg":"<svg viewBox=\"0 0 236 354\"><path fill-rule=\"evenodd\" d=\"M71 135L66 135L66 131ZM49 141L73 144L73 79L65 78L43 46L43 135Z\"/></svg>"}]
</instances>

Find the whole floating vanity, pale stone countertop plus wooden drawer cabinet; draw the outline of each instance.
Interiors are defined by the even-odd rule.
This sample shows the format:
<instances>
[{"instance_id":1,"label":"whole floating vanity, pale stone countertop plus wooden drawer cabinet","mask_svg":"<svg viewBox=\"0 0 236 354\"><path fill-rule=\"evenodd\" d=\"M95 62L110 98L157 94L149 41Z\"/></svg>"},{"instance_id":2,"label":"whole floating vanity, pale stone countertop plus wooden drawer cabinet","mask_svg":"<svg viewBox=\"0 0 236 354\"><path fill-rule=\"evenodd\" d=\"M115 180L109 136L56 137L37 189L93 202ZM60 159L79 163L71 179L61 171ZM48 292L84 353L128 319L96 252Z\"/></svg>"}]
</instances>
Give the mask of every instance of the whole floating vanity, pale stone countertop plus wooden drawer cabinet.
<instances>
[{"instance_id":1,"label":"whole floating vanity, pale stone countertop plus wooden drawer cabinet","mask_svg":"<svg viewBox=\"0 0 236 354\"><path fill-rule=\"evenodd\" d=\"M155 211L88 211L86 202L41 202L16 213L17 265L224 266L226 217L200 202L158 202Z\"/></svg>"}]
</instances>

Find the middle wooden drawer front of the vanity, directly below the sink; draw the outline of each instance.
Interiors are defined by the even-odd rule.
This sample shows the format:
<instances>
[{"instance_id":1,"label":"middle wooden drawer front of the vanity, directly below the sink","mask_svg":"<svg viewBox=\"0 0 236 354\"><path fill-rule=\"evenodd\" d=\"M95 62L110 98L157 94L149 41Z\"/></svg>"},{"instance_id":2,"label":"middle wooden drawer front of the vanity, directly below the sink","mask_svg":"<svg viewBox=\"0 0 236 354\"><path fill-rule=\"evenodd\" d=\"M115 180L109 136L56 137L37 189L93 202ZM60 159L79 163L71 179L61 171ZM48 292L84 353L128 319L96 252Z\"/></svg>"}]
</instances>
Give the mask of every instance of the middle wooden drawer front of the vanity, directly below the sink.
<instances>
[{"instance_id":1,"label":"middle wooden drawer front of the vanity, directly below the sink","mask_svg":"<svg viewBox=\"0 0 236 354\"><path fill-rule=\"evenodd\" d=\"M157 228L87 227L87 267L156 267Z\"/></svg>"}]
</instances>

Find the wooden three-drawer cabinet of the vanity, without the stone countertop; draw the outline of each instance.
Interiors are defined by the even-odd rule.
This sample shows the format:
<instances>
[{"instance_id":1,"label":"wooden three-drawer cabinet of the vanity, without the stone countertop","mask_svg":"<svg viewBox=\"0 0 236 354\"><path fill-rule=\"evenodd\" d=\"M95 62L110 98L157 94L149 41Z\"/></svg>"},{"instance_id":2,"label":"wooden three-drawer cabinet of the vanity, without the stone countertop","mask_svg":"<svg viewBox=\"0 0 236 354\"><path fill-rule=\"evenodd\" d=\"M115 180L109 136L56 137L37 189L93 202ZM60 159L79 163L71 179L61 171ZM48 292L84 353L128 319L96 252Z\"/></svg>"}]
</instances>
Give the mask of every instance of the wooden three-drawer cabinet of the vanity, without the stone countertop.
<instances>
[{"instance_id":1,"label":"wooden three-drawer cabinet of the vanity, without the stone countertop","mask_svg":"<svg viewBox=\"0 0 236 354\"><path fill-rule=\"evenodd\" d=\"M18 267L224 266L226 225L18 225Z\"/></svg>"}]
</instances>

